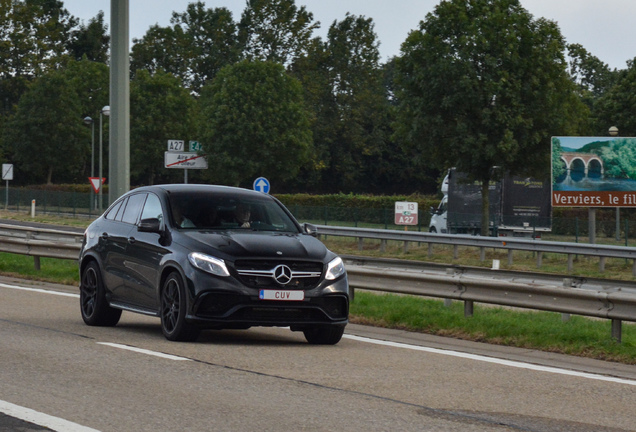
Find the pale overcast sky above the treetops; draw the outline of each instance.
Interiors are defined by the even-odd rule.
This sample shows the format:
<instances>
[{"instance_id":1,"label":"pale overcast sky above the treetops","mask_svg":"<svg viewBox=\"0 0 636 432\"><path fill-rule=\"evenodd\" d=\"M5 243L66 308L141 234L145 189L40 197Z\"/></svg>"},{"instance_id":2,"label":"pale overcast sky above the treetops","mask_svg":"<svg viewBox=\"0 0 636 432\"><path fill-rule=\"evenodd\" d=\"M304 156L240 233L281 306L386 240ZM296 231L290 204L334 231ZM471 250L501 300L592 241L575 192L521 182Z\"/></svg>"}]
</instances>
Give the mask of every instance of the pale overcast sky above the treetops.
<instances>
[{"instance_id":1,"label":"pale overcast sky above the treetops","mask_svg":"<svg viewBox=\"0 0 636 432\"><path fill-rule=\"evenodd\" d=\"M110 24L110 0L63 0L69 12L86 22L102 10ZM192 0L129 0L130 37L141 38L151 25L168 26L172 12L184 12ZM206 7L226 7L239 21L245 0L206 0ZM418 27L439 0L296 0L320 21L325 37L334 20L347 12L373 18L382 61L400 53L409 31ZM568 43L583 45L610 68L625 69L636 57L636 0L521 0L535 18L556 21Z\"/></svg>"}]
</instances>

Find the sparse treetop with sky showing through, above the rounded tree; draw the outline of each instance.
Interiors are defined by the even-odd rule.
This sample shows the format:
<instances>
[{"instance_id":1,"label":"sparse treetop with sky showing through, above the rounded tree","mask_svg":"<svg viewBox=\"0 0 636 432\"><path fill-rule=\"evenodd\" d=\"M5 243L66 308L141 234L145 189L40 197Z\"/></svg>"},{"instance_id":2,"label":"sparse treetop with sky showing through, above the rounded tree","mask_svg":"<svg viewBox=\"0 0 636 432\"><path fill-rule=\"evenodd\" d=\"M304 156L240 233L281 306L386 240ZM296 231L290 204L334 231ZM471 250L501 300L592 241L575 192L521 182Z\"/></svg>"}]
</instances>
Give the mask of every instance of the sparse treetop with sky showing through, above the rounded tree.
<instances>
[{"instance_id":1,"label":"sparse treetop with sky showing through, above the rounded tree","mask_svg":"<svg viewBox=\"0 0 636 432\"><path fill-rule=\"evenodd\" d=\"M307 52L314 29L313 14L294 0L247 0L239 24L239 39L248 59L283 65Z\"/></svg>"}]
</instances>

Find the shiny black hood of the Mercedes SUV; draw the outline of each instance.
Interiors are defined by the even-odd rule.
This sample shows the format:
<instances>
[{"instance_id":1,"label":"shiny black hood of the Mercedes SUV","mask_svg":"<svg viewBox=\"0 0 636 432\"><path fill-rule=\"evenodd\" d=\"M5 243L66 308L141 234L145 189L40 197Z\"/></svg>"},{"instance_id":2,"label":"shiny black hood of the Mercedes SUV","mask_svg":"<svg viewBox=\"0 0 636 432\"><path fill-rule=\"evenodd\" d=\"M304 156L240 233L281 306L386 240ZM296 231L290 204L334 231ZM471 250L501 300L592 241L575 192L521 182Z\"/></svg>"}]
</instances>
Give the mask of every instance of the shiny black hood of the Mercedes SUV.
<instances>
[{"instance_id":1,"label":"shiny black hood of the Mercedes SUV","mask_svg":"<svg viewBox=\"0 0 636 432\"><path fill-rule=\"evenodd\" d=\"M255 231L182 231L180 234L181 239L178 242L192 252L203 252L229 260L257 256L324 262L329 254L320 240L306 234Z\"/></svg>"}]
</instances>

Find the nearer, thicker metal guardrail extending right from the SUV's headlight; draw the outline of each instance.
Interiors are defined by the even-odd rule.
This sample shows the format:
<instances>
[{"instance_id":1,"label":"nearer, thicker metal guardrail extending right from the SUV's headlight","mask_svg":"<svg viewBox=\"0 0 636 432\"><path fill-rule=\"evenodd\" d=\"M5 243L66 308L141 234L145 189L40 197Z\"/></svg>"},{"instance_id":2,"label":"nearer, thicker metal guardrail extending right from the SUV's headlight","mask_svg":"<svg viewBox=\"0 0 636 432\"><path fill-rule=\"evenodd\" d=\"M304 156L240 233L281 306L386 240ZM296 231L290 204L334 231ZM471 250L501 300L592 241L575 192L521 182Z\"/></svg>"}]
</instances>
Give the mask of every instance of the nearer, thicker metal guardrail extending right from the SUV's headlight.
<instances>
[{"instance_id":1,"label":"nearer, thicker metal guardrail extending right from the SUV's headlight","mask_svg":"<svg viewBox=\"0 0 636 432\"><path fill-rule=\"evenodd\" d=\"M409 264L402 260L344 257L349 284L357 289L429 296L583 315L612 321L612 337L621 340L622 321L636 322L636 283L534 275L459 266Z\"/></svg>"}]
</instances>

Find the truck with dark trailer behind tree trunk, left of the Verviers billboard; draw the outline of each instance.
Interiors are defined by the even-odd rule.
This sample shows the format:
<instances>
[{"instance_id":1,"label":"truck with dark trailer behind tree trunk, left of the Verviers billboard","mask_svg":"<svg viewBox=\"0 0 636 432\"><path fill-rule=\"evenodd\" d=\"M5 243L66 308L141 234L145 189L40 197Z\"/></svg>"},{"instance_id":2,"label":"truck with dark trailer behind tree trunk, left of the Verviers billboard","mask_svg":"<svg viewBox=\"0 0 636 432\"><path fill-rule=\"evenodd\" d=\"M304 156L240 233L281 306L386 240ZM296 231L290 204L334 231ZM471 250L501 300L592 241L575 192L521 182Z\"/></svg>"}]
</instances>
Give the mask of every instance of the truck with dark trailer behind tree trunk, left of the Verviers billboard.
<instances>
[{"instance_id":1,"label":"truck with dark trailer behind tree trunk, left of the Verviers billboard","mask_svg":"<svg viewBox=\"0 0 636 432\"><path fill-rule=\"evenodd\" d=\"M550 183L530 177L505 175L489 186L490 233L498 236L541 237L552 229ZM481 184L468 182L455 168L442 182L444 194L431 208L429 231L448 234L479 234L481 231Z\"/></svg>"}]
</instances>

